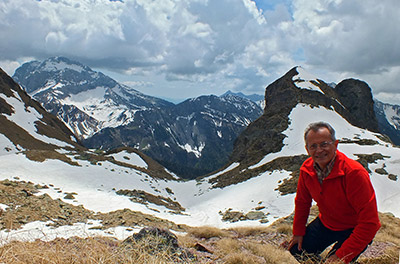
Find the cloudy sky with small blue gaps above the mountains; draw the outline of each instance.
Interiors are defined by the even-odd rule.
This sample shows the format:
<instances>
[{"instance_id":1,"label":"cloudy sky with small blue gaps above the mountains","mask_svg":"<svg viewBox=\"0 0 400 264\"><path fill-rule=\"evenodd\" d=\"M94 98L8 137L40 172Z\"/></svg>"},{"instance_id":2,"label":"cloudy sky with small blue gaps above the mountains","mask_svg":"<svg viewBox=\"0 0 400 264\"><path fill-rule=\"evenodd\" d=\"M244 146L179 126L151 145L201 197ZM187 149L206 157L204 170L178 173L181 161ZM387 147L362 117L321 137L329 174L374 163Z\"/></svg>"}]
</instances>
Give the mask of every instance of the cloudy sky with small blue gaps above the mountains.
<instances>
[{"instance_id":1,"label":"cloudy sky with small blue gaps above the mountains","mask_svg":"<svg viewBox=\"0 0 400 264\"><path fill-rule=\"evenodd\" d=\"M66 56L175 101L263 94L301 65L400 104L398 0L3 0L0 67Z\"/></svg>"}]
</instances>

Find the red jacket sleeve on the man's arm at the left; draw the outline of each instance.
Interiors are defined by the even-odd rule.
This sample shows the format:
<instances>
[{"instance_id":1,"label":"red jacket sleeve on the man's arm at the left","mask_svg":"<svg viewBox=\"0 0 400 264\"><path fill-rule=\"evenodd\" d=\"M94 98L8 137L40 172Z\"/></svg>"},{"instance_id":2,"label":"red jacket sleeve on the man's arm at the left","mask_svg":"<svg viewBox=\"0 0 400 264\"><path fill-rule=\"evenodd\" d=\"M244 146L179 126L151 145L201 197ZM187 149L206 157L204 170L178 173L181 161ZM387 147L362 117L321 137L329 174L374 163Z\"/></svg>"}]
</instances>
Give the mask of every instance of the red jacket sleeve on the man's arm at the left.
<instances>
[{"instance_id":1,"label":"red jacket sleeve on the man's arm at the left","mask_svg":"<svg viewBox=\"0 0 400 264\"><path fill-rule=\"evenodd\" d=\"M308 215L310 214L310 207L312 203L311 194L306 187L305 177L307 177L307 174L300 170L293 219L293 235L295 236L305 235L307 219Z\"/></svg>"}]
</instances>

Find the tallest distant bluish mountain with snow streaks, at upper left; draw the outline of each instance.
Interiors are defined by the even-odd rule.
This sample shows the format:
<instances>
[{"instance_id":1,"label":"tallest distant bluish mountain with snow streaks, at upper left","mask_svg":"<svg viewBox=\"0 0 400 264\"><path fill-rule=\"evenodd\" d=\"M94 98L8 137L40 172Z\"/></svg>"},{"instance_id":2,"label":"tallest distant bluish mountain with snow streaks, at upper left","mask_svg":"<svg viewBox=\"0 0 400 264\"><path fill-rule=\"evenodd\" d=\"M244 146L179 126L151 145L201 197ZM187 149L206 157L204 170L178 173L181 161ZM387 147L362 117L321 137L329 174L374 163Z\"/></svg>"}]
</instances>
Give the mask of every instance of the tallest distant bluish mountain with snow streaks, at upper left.
<instances>
[{"instance_id":1,"label":"tallest distant bluish mountain with snow streaks, at upper left","mask_svg":"<svg viewBox=\"0 0 400 264\"><path fill-rule=\"evenodd\" d=\"M80 139L128 124L137 111L173 105L64 57L25 63L13 79Z\"/></svg>"}]
</instances>

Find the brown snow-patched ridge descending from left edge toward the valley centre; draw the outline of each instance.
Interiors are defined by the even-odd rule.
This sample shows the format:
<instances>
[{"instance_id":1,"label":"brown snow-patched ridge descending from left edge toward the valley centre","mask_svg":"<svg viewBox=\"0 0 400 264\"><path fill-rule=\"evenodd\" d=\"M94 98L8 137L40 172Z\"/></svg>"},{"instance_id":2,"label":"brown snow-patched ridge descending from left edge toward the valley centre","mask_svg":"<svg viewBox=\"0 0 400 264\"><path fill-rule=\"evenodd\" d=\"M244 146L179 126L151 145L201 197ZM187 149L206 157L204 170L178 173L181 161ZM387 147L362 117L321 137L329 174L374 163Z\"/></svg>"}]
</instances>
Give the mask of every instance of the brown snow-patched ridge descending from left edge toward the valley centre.
<instances>
[{"instance_id":1,"label":"brown snow-patched ridge descending from left edge toward the valley centre","mask_svg":"<svg viewBox=\"0 0 400 264\"><path fill-rule=\"evenodd\" d=\"M91 163L108 161L120 167L131 167L116 161L114 156L126 153L134 160L140 160L135 172L146 173L147 177L174 179L151 158L134 149L124 148L108 153L91 152L81 145L75 135L54 115L48 113L39 102L33 100L22 88L0 69L0 156L17 154L33 161L60 160L78 166L76 160ZM9 166L9 163L4 164Z\"/></svg>"}]
</instances>

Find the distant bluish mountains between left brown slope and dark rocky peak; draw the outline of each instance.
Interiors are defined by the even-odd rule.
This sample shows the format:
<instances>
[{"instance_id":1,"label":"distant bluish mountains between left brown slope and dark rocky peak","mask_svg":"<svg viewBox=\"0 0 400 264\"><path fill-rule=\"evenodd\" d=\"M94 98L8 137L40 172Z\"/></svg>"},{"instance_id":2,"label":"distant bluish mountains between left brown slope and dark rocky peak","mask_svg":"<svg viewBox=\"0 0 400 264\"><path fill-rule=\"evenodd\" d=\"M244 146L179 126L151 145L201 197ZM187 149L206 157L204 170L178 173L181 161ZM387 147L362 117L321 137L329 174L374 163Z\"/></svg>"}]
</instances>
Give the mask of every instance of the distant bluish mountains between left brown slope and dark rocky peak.
<instances>
[{"instance_id":1,"label":"distant bluish mountains between left brown slope and dark rocky peak","mask_svg":"<svg viewBox=\"0 0 400 264\"><path fill-rule=\"evenodd\" d=\"M132 147L184 178L223 166L234 140L262 114L259 101L231 92L175 105L64 57L25 63L13 79L86 147Z\"/></svg>"}]
</instances>

